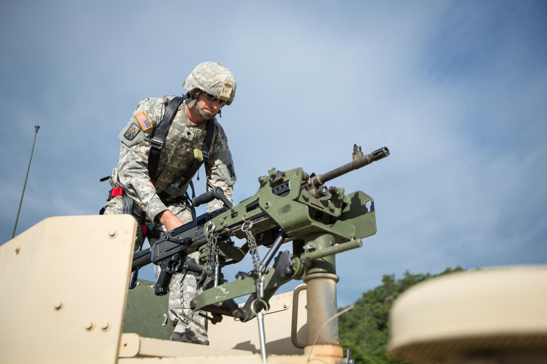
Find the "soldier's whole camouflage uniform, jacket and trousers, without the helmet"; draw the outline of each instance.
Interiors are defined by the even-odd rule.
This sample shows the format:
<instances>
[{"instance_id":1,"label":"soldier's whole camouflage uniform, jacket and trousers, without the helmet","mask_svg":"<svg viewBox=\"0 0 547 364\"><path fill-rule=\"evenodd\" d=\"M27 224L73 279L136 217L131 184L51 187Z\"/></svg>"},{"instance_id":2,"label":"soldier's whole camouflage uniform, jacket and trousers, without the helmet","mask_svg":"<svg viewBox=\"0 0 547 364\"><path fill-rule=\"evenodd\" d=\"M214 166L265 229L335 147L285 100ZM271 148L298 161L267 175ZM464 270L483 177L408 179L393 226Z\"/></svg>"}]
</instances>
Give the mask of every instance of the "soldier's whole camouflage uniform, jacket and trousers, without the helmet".
<instances>
[{"instance_id":1,"label":"soldier's whole camouflage uniform, jacket and trousers, without the helmet","mask_svg":"<svg viewBox=\"0 0 547 364\"><path fill-rule=\"evenodd\" d=\"M144 212L147 220L157 222L154 221L155 216L166 209L183 222L191 221L190 207L184 199L180 198L187 190L190 180L182 180L181 174L193 163L194 149L201 150L203 142L205 142L207 122L194 124L189 121L184 114L186 101L179 107L167 134L158 163L158 171L161 173L155 186L150 182L148 175L150 138L163 117L168 101L173 97L148 98L140 102L132 118L119 134L122 143L118 167L114 168L110 174L110 185L113 188L123 186L127 195L133 199L133 216L138 221L141 220L141 214ZM143 131L135 119L135 115L142 111L146 112L152 122L153 127L150 130ZM214 123L210 157L205 163L206 189L210 191L216 186L222 187L225 195L232 200L232 185L236 180L234 164L224 130L216 119ZM158 193L171 186L175 186L179 190L162 201ZM220 207L222 207L222 202L215 200L207 205L207 210L211 212ZM105 206L104 213L122 214L121 196L110 199ZM154 226L148 234L150 245L161 236L162 232L165 232L164 226ZM137 229L135 248L142 247L144 238L141 229ZM193 263L197 264L198 254L191 254L187 259L195 260ZM173 275L169 287L169 314L175 325L172 339L203 344L207 342L206 319L198 313L193 313L190 309L190 301L198 290L196 277L191 272L185 274L184 277L183 275Z\"/></svg>"}]
</instances>

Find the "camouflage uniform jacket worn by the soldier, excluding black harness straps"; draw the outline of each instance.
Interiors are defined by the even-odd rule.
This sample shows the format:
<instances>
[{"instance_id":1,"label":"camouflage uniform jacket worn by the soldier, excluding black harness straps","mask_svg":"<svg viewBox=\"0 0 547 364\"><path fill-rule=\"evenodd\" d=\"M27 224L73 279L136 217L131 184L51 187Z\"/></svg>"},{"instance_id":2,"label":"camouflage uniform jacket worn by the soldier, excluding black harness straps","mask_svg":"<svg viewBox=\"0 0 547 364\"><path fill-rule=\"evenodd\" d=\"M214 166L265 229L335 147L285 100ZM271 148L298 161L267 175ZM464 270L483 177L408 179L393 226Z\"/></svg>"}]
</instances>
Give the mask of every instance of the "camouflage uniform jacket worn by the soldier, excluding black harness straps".
<instances>
[{"instance_id":1,"label":"camouflage uniform jacket worn by the soldier, excluding black harness straps","mask_svg":"<svg viewBox=\"0 0 547 364\"><path fill-rule=\"evenodd\" d=\"M172 98L174 96L147 98L137 105L133 116L118 136L121 140L118 167L110 174L110 185L123 186L136 206L146 213L149 221L153 222L157 222L154 221L156 215L166 210L169 204L178 202L178 197L188 189L190 180L183 180L182 174L195 159L194 149L201 150L207 132L206 121L195 124L186 118L184 101L169 128L158 163L160 175L153 185L148 174L150 139L163 118L167 103ZM210 156L205 162L207 191L220 186L231 200L232 185L236 180L234 163L224 130L216 119L214 123ZM162 201L158 193L172 185L179 187L180 190ZM220 202L213 201L208 204L207 209L211 211L221 206Z\"/></svg>"}]
</instances>

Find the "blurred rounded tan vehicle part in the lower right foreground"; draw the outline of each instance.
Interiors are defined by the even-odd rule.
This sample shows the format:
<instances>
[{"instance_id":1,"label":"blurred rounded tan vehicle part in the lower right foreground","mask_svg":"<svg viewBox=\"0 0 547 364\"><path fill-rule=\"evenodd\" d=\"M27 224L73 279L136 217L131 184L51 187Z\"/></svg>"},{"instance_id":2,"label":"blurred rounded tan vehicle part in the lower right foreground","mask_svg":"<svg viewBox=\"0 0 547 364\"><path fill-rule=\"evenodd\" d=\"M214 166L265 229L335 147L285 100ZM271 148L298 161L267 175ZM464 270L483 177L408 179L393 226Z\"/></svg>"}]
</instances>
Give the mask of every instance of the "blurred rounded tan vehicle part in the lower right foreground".
<instances>
[{"instance_id":1,"label":"blurred rounded tan vehicle part in the lower right foreground","mask_svg":"<svg viewBox=\"0 0 547 364\"><path fill-rule=\"evenodd\" d=\"M462 272L393 304L389 354L419 363L546 363L547 267Z\"/></svg>"}]
</instances>

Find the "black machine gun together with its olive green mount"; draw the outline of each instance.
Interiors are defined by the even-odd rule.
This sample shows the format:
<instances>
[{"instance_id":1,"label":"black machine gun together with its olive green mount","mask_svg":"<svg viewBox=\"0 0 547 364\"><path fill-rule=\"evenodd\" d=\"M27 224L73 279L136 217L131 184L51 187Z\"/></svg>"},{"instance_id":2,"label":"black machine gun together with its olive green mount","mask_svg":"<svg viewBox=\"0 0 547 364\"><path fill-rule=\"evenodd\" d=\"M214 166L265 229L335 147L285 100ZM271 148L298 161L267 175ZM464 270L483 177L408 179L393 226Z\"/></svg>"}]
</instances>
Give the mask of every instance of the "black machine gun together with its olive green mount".
<instances>
[{"instance_id":1,"label":"black machine gun together with its olive green mount","mask_svg":"<svg viewBox=\"0 0 547 364\"><path fill-rule=\"evenodd\" d=\"M213 316L230 315L247 321L267 307L269 298L289 280L314 273L336 277L334 255L362 246L361 238L376 233L373 198L361 191L345 194L341 187L327 188L324 184L388 155L386 147L364 155L356 144L352 162L324 174L307 174L302 168L285 172L272 168L258 178L258 191L237 206L217 187L194 198L193 202L199 206L218 198L224 202L223 208L198 216L167 232L151 248L135 253L132 271L149 263L158 265L156 295L168 292L172 274L185 269L198 272L202 277L207 274L204 290L191 302L191 308L211 312ZM232 236L246 238L247 243L235 246ZM287 242L293 242L292 253L285 250L278 254L274 266L269 267L281 245ZM237 279L230 282L220 278L220 268L241 261L249 250L258 257L257 245L267 246L269 251L260 263L255 262L254 271L240 272ZM210 263L207 269L188 265L185 257L195 251L202 253L200 262L203 257L210 262L214 254L218 263L214 266ZM259 275L264 280L263 292L257 300ZM245 306L239 308L233 299L243 295L251 296Z\"/></svg>"}]
</instances>

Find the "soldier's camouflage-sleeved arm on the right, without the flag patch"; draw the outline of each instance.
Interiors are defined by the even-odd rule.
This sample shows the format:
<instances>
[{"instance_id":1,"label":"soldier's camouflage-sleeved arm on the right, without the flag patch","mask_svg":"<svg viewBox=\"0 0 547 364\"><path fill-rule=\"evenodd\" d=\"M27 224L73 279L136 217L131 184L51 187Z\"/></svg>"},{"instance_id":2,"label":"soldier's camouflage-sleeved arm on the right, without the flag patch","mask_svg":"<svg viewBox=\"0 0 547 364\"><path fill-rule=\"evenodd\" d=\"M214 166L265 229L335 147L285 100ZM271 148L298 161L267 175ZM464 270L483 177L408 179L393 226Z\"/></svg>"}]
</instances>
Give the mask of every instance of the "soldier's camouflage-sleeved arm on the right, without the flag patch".
<instances>
[{"instance_id":1,"label":"soldier's camouflage-sleeved arm on the right, without the flag patch","mask_svg":"<svg viewBox=\"0 0 547 364\"><path fill-rule=\"evenodd\" d=\"M222 187L224 195L230 201L234 201L234 183L236 174L234 169L234 161L228 147L228 139L220 125L217 124L217 130L213 138L212 153L206 164L207 172L207 191L211 191L214 187ZM223 206L221 201L213 200L207 204L207 211L219 209Z\"/></svg>"}]
</instances>

